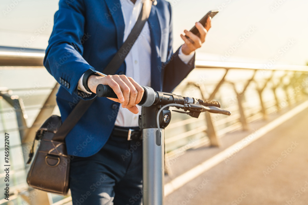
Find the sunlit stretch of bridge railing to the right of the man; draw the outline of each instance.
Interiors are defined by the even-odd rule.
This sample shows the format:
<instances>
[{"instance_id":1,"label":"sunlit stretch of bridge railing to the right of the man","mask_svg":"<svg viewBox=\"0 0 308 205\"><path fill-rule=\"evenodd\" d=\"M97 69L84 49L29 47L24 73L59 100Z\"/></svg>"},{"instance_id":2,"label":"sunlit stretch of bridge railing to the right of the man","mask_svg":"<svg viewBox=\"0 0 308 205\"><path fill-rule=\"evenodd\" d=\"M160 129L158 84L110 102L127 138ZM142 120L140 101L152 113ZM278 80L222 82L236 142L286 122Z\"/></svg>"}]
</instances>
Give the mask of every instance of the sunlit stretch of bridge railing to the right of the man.
<instances>
[{"instance_id":1,"label":"sunlit stretch of bridge railing to the right of the man","mask_svg":"<svg viewBox=\"0 0 308 205\"><path fill-rule=\"evenodd\" d=\"M189 148L221 146L225 133L249 130L249 122L267 120L270 113L302 101L307 88L308 66L196 61L196 69L175 93L218 100L232 114L226 117L205 112L198 119L173 114L172 118L182 120L166 128L166 171L172 174L169 158Z\"/></svg>"}]
</instances>

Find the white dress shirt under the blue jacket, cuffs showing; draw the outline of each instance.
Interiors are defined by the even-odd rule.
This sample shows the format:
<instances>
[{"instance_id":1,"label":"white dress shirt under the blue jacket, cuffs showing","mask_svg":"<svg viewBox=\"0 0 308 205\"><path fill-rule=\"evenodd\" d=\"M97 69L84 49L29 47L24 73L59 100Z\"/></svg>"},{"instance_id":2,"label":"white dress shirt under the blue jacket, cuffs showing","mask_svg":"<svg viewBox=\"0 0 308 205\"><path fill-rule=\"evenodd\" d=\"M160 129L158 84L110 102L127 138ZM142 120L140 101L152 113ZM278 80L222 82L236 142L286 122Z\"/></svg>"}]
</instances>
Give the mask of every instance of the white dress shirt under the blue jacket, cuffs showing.
<instances>
[{"instance_id":1,"label":"white dress shirt under the blue jacket, cuffs showing","mask_svg":"<svg viewBox=\"0 0 308 205\"><path fill-rule=\"evenodd\" d=\"M131 0L120 0L125 23L123 42L127 39L138 19L143 1L144 0L136 0L136 3L134 4ZM182 53L182 49L180 48L179 58L184 63L187 64L193 55L194 53L185 55ZM127 77L132 77L141 86L151 85L151 37L148 22L145 23L139 37L125 58L125 63L125 75ZM79 89L83 92L89 93L82 85L82 78L83 75L79 80ZM138 127L138 116L141 114L141 106L136 106L139 109L138 114L134 114L127 108L122 108L122 106L120 106L115 125L121 127Z\"/></svg>"}]
</instances>

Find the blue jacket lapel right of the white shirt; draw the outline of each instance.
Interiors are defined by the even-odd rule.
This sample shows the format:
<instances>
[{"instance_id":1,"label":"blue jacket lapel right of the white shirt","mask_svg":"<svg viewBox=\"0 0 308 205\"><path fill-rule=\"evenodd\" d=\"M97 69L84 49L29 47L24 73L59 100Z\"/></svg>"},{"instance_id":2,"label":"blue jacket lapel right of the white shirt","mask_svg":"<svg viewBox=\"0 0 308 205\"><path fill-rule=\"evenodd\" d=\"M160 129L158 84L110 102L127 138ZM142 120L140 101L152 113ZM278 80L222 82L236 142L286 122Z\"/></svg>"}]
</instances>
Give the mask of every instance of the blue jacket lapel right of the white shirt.
<instances>
[{"instance_id":1,"label":"blue jacket lapel right of the white shirt","mask_svg":"<svg viewBox=\"0 0 308 205\"><path fill-rule=\"evenodd\" d=\"M161 78L161 23L156 6L152 6L148 19L151 34L151 87L154 90L160 90L162 87Z\"/></svg>"}]
</instances>

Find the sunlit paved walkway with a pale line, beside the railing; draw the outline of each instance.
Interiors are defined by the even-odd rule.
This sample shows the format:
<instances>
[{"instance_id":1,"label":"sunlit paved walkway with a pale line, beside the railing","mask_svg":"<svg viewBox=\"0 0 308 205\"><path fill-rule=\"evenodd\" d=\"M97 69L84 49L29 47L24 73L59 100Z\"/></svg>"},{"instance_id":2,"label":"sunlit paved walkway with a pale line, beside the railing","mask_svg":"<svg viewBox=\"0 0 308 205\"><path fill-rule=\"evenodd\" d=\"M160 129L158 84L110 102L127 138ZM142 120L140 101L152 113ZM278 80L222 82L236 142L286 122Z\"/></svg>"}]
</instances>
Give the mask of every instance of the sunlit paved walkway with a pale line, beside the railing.
<instances>
[{"instance_id":1,"label":"sunlit paved walkway with a pale line, beside the railing","mask_svg":"<svg viewBox=\"0 0 308 205\"><path fill-rule=\"evenodd\" d=\"M286 110L284 111L286 112ZM276 119L251 123L252 131L222 138L222 148L188 150L171 166L165 183L201 164ZM165 197L166 205L308 204L308 109Z\"/></svg>"}]
</instances>

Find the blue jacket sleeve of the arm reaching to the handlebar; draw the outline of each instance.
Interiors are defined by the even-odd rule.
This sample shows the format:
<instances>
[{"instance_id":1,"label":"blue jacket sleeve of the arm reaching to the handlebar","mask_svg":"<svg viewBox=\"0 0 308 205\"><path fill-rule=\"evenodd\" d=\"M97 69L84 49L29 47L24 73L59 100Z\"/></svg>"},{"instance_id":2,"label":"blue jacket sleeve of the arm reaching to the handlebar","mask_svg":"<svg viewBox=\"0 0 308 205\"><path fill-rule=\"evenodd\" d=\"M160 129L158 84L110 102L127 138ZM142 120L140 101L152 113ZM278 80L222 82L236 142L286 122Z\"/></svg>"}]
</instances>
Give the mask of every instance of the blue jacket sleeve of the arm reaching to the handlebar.
<instances>
[{"instance_id":1,"label":"blue jacket sleeve of the arm reaching to the handlebar","mask_svg":"<svg viewBox=\"0 0 308 205\"><path fill-rule=\"evenodd\" d=\"M48 41L44 66L70 94L78 94L78 81L92 66L83 59L84 33L83 0L60 0L55 13L54 27ZM63 82L66 82L63 84ZM87 99L91 99L92 96Z\"/></svg>"}]
</instances>

